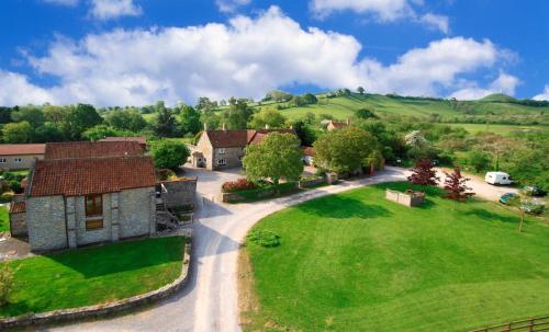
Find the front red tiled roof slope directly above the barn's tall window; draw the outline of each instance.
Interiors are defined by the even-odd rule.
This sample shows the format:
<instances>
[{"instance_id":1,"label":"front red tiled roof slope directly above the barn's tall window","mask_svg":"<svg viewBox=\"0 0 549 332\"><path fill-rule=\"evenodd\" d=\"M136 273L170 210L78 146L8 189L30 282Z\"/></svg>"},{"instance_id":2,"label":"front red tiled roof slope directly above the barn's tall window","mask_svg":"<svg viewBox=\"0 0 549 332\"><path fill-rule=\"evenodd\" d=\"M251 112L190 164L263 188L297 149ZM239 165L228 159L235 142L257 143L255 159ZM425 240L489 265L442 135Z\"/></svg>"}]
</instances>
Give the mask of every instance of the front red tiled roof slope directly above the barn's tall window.
<instances>
[{"instance_id":1,"label":"front red tiled roof slope directly above the barn's tall window","mask_svg":"<svg viewBox=\"0 0 549 332\"><path fill-rule=\"evenodd\" d=\"M38 160L29 196L82 196L155 185L150 157Z\"/></svg>"}]
</instances>

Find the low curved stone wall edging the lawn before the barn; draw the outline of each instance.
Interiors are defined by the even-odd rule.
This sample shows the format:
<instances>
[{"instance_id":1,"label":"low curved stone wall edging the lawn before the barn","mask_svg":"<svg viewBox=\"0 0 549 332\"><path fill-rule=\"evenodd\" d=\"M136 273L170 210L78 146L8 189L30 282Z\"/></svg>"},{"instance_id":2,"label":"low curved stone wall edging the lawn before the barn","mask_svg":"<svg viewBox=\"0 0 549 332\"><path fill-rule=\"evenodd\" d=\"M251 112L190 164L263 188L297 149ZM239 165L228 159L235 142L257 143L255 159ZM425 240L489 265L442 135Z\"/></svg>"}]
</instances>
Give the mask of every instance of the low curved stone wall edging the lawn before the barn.
<instances>
[{"instance_id":1,"label":"low curved stone wall edging the lawn before the barn","mask_svg":"<svg viewBox=\"0 0 549 332\"><path fill-rule=\"evenodd\" d=\"M172 283L163 286L156 290L136 295L122 300L110 304L94 305L80 308L60 309L55 311L23 314L18 317L10 317L0 319L0 331L8 329L29 327L29 325L45 325L51 323L76 321L86 318L97 318L115 312L122 312L130 309L135 309L144 305L153 304L163 298L169 297L180 290L189 277L189 266L191 259L191 244L187 243L183 254L183 263L181 267L181 275Z\"/></svg>"}]
</instances>

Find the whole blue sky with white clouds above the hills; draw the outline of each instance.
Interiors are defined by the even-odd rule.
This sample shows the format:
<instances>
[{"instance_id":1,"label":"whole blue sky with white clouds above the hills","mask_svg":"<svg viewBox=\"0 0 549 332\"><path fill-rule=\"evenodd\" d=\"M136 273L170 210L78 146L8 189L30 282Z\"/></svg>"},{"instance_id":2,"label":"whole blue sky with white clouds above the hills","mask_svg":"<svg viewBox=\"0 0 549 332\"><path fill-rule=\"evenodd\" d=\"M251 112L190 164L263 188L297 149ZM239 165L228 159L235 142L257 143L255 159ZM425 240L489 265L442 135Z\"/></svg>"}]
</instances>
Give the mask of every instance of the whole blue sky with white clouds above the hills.
<instances>
[{"instance_id":1,"label":"whole blue sky with white clouds above the hills","mask_svg":"<svg viewBox=\"0 0 549 332\"><path fill-rule=\"evenodd\" d=\"M546 0L1 0L0 105L549 100Z\"/></svg>"}]
</instances>

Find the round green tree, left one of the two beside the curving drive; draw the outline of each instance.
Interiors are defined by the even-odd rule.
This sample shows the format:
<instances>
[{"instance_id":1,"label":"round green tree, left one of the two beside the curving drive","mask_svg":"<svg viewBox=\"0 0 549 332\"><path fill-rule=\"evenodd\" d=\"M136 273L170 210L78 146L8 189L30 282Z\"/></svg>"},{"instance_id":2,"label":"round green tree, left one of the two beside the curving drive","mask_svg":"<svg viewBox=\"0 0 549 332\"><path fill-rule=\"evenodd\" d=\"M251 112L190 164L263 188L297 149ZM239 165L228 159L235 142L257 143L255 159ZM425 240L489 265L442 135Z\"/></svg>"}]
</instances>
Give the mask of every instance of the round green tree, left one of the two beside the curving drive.
<instances>
[{"instance_id":1,"label":"round green tree, left one of the two beside the curving drive","mask_svg":"<svg viewBox=\"0 0 549 332\"><path fill-rule=\"evenodd\" d=\"M271 133L258 145L246 148L243 165L246 178L253 182L270 178L278 184L280 179L298 180L303 172L300 140L295 135Z\"/></svg>"}]
</instances>

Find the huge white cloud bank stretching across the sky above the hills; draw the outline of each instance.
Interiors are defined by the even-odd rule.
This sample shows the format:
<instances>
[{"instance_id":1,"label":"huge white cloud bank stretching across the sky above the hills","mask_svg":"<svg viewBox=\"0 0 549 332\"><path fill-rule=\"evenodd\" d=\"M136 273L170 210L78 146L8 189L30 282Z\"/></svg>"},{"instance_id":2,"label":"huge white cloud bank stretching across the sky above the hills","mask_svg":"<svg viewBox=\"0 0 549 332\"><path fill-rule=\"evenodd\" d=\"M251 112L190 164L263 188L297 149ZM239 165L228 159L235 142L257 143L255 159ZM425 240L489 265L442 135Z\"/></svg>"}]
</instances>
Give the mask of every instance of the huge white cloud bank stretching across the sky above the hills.
<instances>
[{"instance_id":1,"label":"huge white cloud bank stretching across the sky above the hills","mask_svg":"<svg viewBox=\"0 0 549 332\"><path fill-rule=\"evenodd\" d=\"M272 7L258 18L237 16L228 24L115 30L77 42L59 39L46 56L29 59L40 73L60 82L49 89L34 87L46 93L43 101L55 96L60 103L143 105L181 99L193 103L202 95L260 98L291 84L438 95L456 90L463 73L492 67L504 53L490 41L463 37L411 49L391 65L359 58L360 50L355 37L302 28Z\"/></svg>"}]
</instances>

